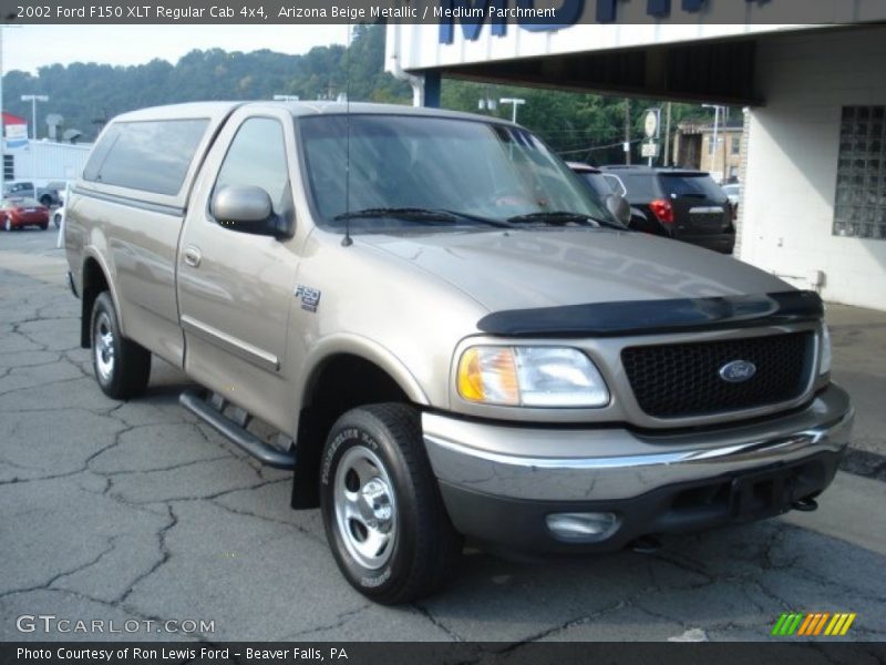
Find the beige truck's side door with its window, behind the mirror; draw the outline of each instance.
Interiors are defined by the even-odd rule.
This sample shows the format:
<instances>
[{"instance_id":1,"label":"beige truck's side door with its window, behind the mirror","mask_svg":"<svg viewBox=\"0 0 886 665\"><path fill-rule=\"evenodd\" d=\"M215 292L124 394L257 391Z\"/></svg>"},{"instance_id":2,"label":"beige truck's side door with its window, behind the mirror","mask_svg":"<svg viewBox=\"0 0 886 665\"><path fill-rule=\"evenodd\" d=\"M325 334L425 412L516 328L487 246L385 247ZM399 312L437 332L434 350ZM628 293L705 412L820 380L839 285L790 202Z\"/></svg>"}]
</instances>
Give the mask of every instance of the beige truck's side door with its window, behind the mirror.
<instances>
[{"instance_id":1,"label":"beige truck's side door with its window, behind the mirror","mask_svg":"<svg viewBox=\"0 0 886 665\"><path fill-rule=\"evenodd\" d=\"M258 186L274 214L295 226L291 115L235 112L207 156L178 252L178 304L185 370L277 427L288 411L287 327L298 255L291 238L224 227L212 200L227 186Z\"/></svg>"}]
</instances>

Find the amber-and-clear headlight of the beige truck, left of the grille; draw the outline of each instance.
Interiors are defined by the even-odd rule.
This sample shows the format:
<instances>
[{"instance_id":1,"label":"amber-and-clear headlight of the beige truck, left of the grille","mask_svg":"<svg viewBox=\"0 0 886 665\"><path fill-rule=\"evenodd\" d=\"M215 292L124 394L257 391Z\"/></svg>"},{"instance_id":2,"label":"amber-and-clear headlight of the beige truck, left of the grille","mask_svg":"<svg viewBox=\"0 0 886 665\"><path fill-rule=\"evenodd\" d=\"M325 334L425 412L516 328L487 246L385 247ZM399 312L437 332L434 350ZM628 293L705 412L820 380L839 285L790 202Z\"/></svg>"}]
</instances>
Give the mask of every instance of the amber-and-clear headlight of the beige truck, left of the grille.
<instances>
[{"instance_id":1,"label":"amber-and-clear headlight of the beige truck, left of the grille","mask_svg":"<svg viewBox=\"0 0 886 665\"><path fill-rule=\"evenodd\" d=\"M471 347L459 360L459 395L509 407L605 407L609 390L578 349Z\"/></svg>"}]
</instances>

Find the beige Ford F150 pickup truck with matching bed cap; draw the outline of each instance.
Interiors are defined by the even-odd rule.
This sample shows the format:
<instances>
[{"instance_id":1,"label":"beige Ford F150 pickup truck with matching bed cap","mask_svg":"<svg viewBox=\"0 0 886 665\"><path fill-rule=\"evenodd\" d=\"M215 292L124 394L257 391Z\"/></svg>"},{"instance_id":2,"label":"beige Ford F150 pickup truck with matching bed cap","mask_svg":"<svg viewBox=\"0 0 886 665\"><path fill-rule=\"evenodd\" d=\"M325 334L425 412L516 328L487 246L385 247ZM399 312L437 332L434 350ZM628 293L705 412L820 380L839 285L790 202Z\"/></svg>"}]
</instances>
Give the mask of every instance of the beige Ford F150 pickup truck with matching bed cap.
<instances>
[{"instance_id":1,"label":"beige Ford F150 pickup truck with matching bed cap","mask_svg":"<svg viewBox=\"0 0 886 665\"><path fill-rule=\"evenodd\" d=\"M152 354L182 368L382 603L437 587L463 536L589 553L814 508L853 419L818 296L612 203L488 117L127 113L68 206L81 342L114 398Z\"/></svg>"}]
</instances>

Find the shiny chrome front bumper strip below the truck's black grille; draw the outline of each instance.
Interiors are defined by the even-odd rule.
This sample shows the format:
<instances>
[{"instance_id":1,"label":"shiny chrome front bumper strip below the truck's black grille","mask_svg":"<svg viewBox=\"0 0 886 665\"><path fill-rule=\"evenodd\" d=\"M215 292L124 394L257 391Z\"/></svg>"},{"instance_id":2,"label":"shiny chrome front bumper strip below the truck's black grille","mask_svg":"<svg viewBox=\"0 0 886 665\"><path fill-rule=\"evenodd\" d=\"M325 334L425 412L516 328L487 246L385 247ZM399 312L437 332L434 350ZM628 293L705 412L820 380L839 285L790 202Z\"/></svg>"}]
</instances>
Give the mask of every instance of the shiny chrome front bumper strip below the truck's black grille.
<instances>
[{"instance_id":1,"label":"shiny chrome front bumper strip below the truck's black grille","mask_svg":"<svg viewBox=\"0 0 886 665\"><path fill-rule=\"evenodd\" d=\"M513 499L597 501L841 452L853 419L848 396L831 385L802 411L705 432L524 428L436 413L424 413L422 428L441 482Z\"/></svg>"}]
</instances>

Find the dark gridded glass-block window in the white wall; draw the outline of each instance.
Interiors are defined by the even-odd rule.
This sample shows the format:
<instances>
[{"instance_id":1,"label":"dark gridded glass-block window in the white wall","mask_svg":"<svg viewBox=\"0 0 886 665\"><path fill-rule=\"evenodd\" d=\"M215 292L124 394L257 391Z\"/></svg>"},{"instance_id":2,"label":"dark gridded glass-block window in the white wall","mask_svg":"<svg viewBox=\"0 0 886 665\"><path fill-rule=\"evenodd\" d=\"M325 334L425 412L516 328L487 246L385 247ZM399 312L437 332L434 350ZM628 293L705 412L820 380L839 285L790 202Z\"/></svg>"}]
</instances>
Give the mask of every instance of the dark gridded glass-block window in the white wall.
<instances>
[{"instance_id":1,"label":"dark gridded glass-block window in the white wall","mask_svg":"<svg viewBox=\"0 0 886 665\"><path fill-rule=\"evenodd\" d=\"M834 235L886 241L886 106L844 106Z\"/></svg>"}]
</instances>

